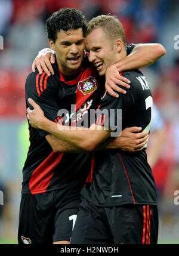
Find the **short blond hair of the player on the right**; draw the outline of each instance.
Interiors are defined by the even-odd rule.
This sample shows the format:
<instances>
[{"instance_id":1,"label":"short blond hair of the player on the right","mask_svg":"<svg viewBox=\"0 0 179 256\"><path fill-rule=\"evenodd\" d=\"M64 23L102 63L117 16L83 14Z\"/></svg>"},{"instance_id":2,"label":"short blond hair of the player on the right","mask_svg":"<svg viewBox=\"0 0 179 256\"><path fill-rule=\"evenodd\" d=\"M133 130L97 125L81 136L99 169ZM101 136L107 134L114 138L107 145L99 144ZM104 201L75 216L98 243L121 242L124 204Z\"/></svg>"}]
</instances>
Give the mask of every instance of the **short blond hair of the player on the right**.
<instances>
[{"instance_id":1,"label":"short blond hair of the player on the right","mask_svg":"<svg viewBox=\"0 0 179 256\"><path fill-rule=\"evenodd\" d=\"M114 44L116 39L121 39L124 47L126 47L124 28L121 22L115 16L100 15L92 18L87 24L87 34L90 34L92 30L101 28L106 34L107 39Z\"/></svg>"}]
</instances>

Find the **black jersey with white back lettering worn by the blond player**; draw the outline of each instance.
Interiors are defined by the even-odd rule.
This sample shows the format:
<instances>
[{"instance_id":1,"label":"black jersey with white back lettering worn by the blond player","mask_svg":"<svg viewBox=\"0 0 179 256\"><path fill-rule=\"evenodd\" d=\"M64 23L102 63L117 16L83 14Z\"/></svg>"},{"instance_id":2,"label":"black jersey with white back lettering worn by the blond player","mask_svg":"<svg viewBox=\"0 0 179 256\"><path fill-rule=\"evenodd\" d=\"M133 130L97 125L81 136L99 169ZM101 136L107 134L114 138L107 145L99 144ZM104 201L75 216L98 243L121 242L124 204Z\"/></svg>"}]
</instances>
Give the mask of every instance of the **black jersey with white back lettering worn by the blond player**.
<instances>
[{"instance_id":1,"label":"black jersey with white back lettering worn by the blond player","mask_svg":"<svg viewBox=\"0 0 179 256\"><path fill-rule=\"evenodd\" d=\"M137 126L150 131L153 101L146 78L138 70L122 75L131 81L131 88L125 95L119 94L119 98L113 98L106 92L98 107L95 123L114 132L120 126L122 129ZM122 115L117 110L122 110ZM126 203L156 205L155 180L147 163L146 150L135 153L116 149L95 152L92 173L82 189L82 196L99 206Z\"/></svg>"}]
</instances>

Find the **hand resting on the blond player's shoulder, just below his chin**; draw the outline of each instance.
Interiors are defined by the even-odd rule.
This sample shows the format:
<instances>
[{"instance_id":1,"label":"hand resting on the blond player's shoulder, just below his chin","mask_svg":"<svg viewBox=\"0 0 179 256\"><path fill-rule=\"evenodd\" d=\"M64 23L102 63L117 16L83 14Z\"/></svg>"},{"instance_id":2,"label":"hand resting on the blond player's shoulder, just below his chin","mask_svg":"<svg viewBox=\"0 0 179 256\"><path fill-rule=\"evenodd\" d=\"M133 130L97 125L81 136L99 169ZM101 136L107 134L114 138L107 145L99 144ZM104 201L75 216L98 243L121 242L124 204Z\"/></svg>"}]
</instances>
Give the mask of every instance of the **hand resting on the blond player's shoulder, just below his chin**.
<instances>
[{"instance_id":1,"label":"hand resting on the blond player's shoulder, just below his chin","mask_svg":"<svg viewBox=\"0 0 179 256\"><path fill-rule=\"evenodd\" d=\"M115 91L118 91L122 94L126 94L126 91L123 90L121 87L118 87L118 85L121 85L122 87L129 89L130 82L131 81L129 81L129 79L119 74L118 69L116 69L115 65L112 65L107 68L105 88L107 92L113 97L116 97L116 98L119 97L119 94L116 93Z\"/></svg>"}]
</instances>

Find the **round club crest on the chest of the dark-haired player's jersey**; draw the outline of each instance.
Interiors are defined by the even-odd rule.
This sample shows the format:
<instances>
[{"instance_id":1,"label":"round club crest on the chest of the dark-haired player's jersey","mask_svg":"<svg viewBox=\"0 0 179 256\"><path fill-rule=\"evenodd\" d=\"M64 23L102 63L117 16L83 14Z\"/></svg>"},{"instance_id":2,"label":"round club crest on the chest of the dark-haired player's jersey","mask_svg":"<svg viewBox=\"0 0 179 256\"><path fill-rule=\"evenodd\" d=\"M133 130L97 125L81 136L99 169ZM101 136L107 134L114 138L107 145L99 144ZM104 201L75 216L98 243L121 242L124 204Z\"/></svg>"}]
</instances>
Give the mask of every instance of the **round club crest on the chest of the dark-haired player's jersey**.
<instances>
[{"instance_id":1,"label":"round club crest on the chest of the dark-haired player's jersey","mask_svg":"<svg viewBox=\"0 0 179 256\"><path fill-rule=\"evenodd\" d=\"M92 78L92 76L90 76L90 78L79 82L78 88L80 91L82 91L84 95L90 94L97 89L95 78Z\"/></svg>"}]
</instances>

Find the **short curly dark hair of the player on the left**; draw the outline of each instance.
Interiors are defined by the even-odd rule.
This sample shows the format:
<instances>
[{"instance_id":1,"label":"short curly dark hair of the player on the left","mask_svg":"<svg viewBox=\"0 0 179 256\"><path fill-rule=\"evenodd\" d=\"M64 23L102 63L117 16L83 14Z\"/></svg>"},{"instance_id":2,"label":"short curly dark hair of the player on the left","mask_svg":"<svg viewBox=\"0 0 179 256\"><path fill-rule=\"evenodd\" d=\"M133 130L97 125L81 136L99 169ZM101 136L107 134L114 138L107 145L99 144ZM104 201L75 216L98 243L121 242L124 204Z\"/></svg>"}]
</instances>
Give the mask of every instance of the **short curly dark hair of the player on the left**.
<instances>
[{"instance_id":1,"label":"short curly dark hair of the player on the left","mask_svg":"<svg viewBox=\"0 0 179 256\"><path fill-rule=\"evenodd\" d=\"M57 32L60 30L79 29L86 33L87 21L84 14L75 8L61 8L55 11L46 21L46 30L48 38L54 42L57 40Z\"/></svg>"}]
</instances>

